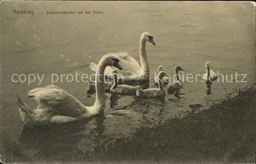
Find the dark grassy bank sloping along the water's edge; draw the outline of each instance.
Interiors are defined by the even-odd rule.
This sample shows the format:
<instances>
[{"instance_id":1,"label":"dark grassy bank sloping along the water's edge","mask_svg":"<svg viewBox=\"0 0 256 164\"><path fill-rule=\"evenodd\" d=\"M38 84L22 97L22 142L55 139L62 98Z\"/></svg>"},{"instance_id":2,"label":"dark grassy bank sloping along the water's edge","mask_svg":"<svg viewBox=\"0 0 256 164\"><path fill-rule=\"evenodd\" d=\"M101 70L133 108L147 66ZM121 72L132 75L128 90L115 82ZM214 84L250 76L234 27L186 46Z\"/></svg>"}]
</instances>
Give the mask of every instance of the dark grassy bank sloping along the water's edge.
<instances>
[{"instance_id":1,"label":"dark grassy bank sloping along the water's edge","mask_svg":"<svg viewBox=\"0 0 256 164\"><path fill-rule=\"evenodd\" d=\"M167 162L254 163L255 86L212 104L208 110L188 112L152 127L141 127L132 137L98 143L84 153L64 146L47 156L24 156L8 149L8 161L42 162ZM15 155L11 155L11 154ZM6 158L5 158L6 159ZM6 160L5 160L6 161Z\"/></svg>"}]
</instances>

